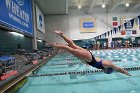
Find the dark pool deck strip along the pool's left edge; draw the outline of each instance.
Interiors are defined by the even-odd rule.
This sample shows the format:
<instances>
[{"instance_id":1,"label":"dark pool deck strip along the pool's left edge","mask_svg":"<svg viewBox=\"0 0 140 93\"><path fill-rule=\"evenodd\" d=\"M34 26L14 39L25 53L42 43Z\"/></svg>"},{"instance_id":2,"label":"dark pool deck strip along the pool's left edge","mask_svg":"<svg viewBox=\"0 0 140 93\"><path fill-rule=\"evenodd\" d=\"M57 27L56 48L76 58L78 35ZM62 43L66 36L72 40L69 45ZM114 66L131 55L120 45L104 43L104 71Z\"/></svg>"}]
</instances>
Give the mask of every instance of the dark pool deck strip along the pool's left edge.
<instances>
[{"instance_id":1,"label":"dark pool deck strip along the pool's left edge","mask_svg":"<svg viewBox=\"0 0 140 93\"><path fill-rule=\"evenodd\" d=\"M43 64L48 62L51 58L53 58L55 55L56 54L47 56L46 59L39 59L39 62L36 65L28 64L22 67L21 66L17 67L16 70L18 71L18 73L16 75L11 76L7 78L6 80L0 81L0 93L3 93L4 91L12 87L14 84L19 82L21 79L31 74L32 71L41 67Z\"/></svg>"}]
</instances>

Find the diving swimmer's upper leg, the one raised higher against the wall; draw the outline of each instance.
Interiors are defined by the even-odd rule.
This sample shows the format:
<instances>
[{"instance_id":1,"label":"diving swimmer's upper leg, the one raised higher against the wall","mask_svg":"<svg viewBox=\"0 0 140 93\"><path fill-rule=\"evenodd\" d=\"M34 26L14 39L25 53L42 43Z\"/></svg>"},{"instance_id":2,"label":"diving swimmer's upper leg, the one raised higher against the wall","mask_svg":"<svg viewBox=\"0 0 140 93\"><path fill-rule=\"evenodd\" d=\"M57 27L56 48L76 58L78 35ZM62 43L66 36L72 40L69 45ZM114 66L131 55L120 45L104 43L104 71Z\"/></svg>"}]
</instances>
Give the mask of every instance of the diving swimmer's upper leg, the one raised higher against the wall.
<instances>
[{"instance_id":1,"label":"diving swimmer's upper leg, the one raised higher against the wall","mask_svg":"<svg viewBox=\"0 0 140 93\"><path fill-rule=\"evenodd\" d=\"M74 48L74 49L83 49L77 45L75 45L75 43L70 39L68 38L62 31L55 31L56 34L58 34L59 36L61 36L67 43L70 47Z\"/></svg>"}]
</instances>

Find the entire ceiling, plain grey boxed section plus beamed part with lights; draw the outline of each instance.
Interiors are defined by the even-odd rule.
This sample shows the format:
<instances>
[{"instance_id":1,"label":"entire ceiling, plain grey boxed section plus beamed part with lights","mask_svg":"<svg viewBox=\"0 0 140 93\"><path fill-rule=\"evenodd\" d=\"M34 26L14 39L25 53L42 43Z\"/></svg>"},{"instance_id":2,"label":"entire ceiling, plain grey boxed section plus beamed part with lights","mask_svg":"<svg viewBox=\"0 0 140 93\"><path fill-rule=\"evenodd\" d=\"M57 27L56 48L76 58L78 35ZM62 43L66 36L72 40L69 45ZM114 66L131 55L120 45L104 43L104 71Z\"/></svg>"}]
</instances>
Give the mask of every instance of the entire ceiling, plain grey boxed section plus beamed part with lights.
<instances>
[{"instance_id":1,"label":"entire ceiling, plain grey boxed section plus beamed part with lights","mask_svg":"<svg viewBox=\"0 0 140 93\"><path fill-rule=\"evenodd\" d=\"M87 9L88 12L94 10L99 11L101 5L105 3L106 12L112 12L117 9L123 9L126 12L140 9L140 0L35 0L44 14L68 14L69 9L77 9L78 5L81 9ZM126 7L125 3L130 6Z\"/></svg>"}]
</instances>

